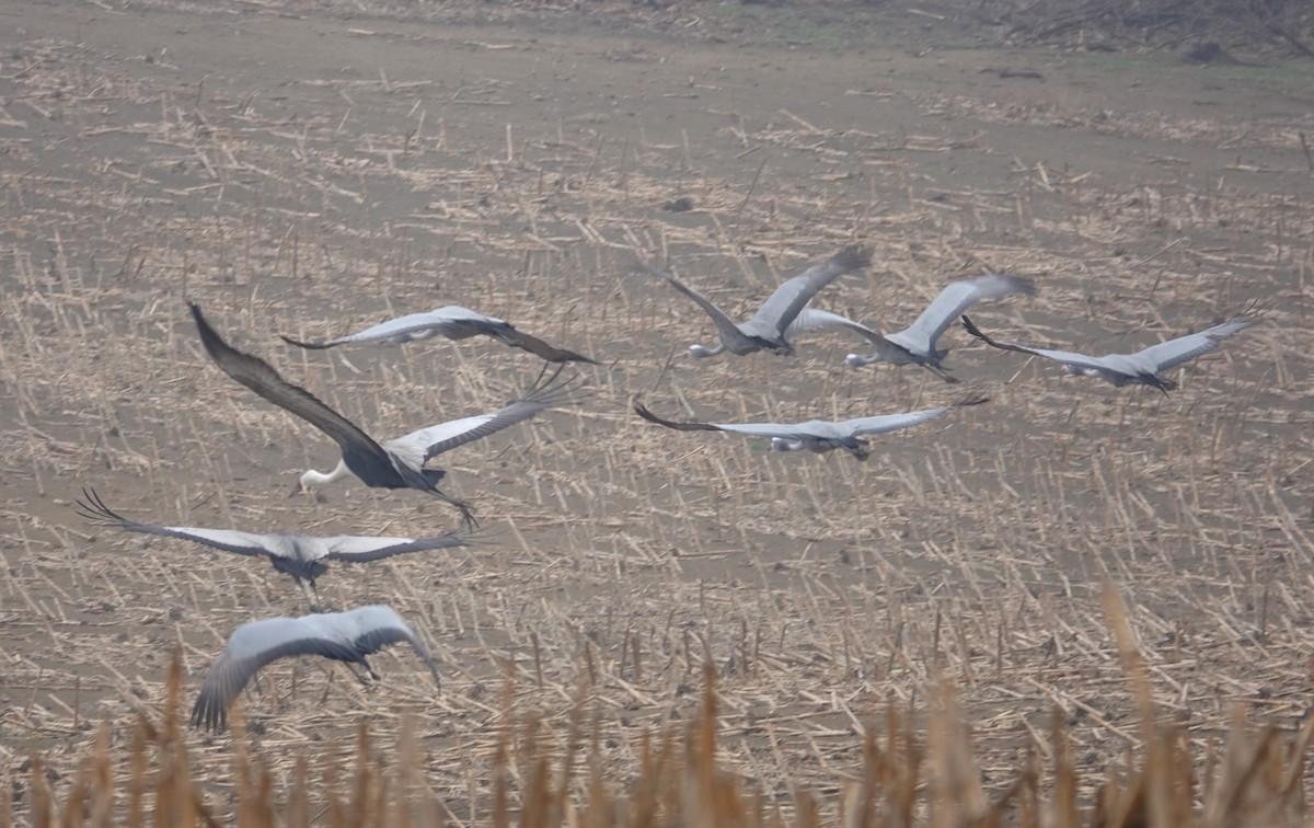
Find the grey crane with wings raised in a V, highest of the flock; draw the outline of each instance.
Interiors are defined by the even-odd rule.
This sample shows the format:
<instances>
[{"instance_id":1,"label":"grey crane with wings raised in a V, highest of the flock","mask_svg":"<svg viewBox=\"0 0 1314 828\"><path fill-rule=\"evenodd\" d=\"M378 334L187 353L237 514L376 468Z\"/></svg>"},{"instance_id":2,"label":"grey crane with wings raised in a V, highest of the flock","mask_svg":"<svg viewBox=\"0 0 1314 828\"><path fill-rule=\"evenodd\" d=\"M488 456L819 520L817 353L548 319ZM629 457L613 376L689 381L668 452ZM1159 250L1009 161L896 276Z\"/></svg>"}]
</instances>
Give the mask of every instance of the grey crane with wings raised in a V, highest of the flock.
<instances>
[{"instance_id":1,"label":"grey crane with wings raised in a V, highest of the flock","mask_svg":"<svg viewBox=\"0 0 1314 828\"><path fill-rule=\"evenodd\" d=\"M716 356L724 351L737 354L753 354L754 351L770 351L773 354L794 354L794 347L788 343L788 335L800 330L833 325L828 317L834 314L812 313L803 317L804 322L798 323L803 306L812 300L817 292L834 281L837 277L867 267L871 254L859 247L846 247L820 264L813 264L792 279L784 280L779 288L758 308L753 318L742 325L731 319L725 313L712 304L706 296L694 290L665 271L640 263L639 271L670 283L673 288L698 302L720 335L720 344L715 348L694 344L689 347L692 356ZM811 319L813 323L808 325ZM844 319L844 317L834 317ZM848 319L844 319L848 322Z\"/></svg>"}]
</instances>

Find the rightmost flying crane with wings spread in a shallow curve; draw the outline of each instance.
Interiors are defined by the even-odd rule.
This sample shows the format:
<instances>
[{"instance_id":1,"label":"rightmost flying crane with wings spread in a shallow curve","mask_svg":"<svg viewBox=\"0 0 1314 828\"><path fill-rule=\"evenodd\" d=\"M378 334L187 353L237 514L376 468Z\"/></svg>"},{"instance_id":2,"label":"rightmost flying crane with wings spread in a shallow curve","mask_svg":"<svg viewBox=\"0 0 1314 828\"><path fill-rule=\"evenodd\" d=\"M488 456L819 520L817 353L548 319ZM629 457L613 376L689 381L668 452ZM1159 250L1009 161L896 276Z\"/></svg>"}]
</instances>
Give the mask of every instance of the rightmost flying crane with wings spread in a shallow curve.
<instances>
[{"instance_id":1,"label":"rightmost flying crane with wings spread in a shallow curve","mask_svg":"<svg viewBox=\"0 0 1314 828\"><path fill-rule=\"evenodd\" d=\"M1255 310L1255 305L1250 305L1231 319L1202 331L1160 342L1135 354L1108 354L1105 356L1085 356L1071 351L1047 351L999 342L983 334L966 315L963 317L963 329L993 348L1043 356L1063 363L1063 369L1070 375L1099 377L1120 388L1123 385L1150 385L1167 396L1168 392L1177 388L1177 382L1160 376L1162 372L1189 363L1202 354L1209 354L1222 344L1221 340L1235 336L1261 319L1263 314Z\"/></svg>"}]
</instances>

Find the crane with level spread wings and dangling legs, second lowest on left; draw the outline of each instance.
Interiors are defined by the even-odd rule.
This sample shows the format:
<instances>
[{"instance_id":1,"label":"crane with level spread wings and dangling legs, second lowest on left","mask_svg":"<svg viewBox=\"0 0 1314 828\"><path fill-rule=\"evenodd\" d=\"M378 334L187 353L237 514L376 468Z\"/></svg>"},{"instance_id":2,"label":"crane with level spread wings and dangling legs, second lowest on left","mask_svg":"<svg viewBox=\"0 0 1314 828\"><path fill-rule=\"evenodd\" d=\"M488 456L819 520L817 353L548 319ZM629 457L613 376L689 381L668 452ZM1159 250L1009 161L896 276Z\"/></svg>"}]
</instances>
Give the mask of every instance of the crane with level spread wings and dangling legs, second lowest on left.
<instances>
[{"instance_id":1,"label":"crane with level spread wings and dangling legs, second lowest on left","mask_svg":"<svg viewBox=\"0 0 1314 828\"><path fill-rule=\"evenodd\" d=\"M335 535L315 538L296 532L269 532L258 535L239 530L213 530L196 526L154 526L124 518L96 494L93 489L83 489L83 499L78 501L81 517L97 526L112 526L126 532L160 535L191 540L214 549L234 552L252 557L264 557L279 572L292 576L310 602L310 609L319 611L319 591L315 578L328 572L325 561L364 563L377 561L407 552L427 549L451 549L469 545L457 535L436 535L432 538L384 538L365 535ZM309 590L306 585L310 585Z\"/></svg>"}]
</instances>

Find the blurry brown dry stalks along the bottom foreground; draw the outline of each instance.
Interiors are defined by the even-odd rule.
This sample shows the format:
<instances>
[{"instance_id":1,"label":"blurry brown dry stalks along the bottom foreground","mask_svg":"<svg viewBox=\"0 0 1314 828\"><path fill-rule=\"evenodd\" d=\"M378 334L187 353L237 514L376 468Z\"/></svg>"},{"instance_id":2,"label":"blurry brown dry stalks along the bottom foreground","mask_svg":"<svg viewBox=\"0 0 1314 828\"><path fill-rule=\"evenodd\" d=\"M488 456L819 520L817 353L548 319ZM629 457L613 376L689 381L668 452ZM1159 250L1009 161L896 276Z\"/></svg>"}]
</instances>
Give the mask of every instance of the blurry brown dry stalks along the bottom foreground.
<instances>
[{"instance_id":1,"label":"blurry brown dry stalks along the bottom foreground","mask_svg":"<svg viewBox=\"0 0 1314 828\"><path fill-rule=\"evenodd\" d=\"M859 773L841 783L833 823L983 828L1305 824L1301 779L1314 719L1289 739L1273 729L1254 732L1238 718L1226 749L1210 754L1201 774L1184 729L1158 720L1126 607L1112 587L1105 590L1104 603L1135 687L1143 754L1122 778L1099 782L1097 800L1088 812L1077 806L1080 774L1062 711L1055 710L1047 735L1049 761L1030 753L1014 770L1016 781L992 799L982 789L970 727L953 685L943 681L930 702L929 736L916 735L897 704L891 704L883 719L858 728ZM289 770L288 757L261 756L247 745L238 716L234 814L248 827L438 825L449 820L498 827L821 824L817 800L807 789L794 787L782 807L723 768L716 669L707 665L704 676L698 715L687 725L668 724L645 735L639 765L631 769L632 781L619 790L607 782L598 722L586 722L587 686L581 687L566 727L553 729L536 714L516 714L509 681L498 736L491 756L485 757L491 790L486 802L470 790L469 811L460 816L428 786L422 750L409 728L402 731L392 764L374 756L368 728L361 724L350 764L338 757L311 762L302 754ZM218 824L189 760L181 697L181 661L175 660L163 720L141 716L130 728L129 747L117 750L110 747L109 725L102 727L93 754L83 762L62 803L45 779L45 764L34 757L32 823ZM289 778L290 785L280 785L279 777ZM313 786L313 778L325 786ZM11 824L12 814L0 808L0 825Z\"/></svg>"}]
</instances>

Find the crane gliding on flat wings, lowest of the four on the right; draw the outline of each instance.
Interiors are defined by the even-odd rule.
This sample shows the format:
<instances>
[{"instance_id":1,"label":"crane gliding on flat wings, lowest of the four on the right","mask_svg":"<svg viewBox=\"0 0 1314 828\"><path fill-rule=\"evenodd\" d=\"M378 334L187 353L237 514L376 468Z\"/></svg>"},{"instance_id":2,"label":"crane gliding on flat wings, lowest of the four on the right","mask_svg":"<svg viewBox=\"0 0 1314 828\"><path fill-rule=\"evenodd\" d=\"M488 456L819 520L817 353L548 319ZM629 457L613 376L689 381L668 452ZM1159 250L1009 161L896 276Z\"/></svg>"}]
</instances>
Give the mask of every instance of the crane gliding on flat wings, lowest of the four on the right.
<instances>
[{"instance_id":1,"label":"crane gliding on flat wings, lowest of the four on the right","mask_svg":"<svg viewBox=\"0 0 1314 828\"><path fill-rule=\"evenodd\" d=\"M924 423L951 411L959 406L980 405L987 397L972 397L954 405L938 409L924 409L905 414L883 414L879 417L858 417L840 422L809 419L804 423L702 423L675 422L657 417L641 403L635 403L635 413L650 423L675 428L677 431L732 431L749 436L771 438L775 451L827 452L844 448L858 460L866 460L871 453L867 442L861 439L870 434L887 434L909 426Z\"/></svg>"}]
</instances>

